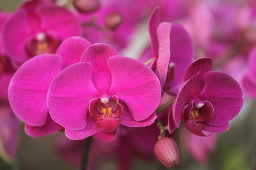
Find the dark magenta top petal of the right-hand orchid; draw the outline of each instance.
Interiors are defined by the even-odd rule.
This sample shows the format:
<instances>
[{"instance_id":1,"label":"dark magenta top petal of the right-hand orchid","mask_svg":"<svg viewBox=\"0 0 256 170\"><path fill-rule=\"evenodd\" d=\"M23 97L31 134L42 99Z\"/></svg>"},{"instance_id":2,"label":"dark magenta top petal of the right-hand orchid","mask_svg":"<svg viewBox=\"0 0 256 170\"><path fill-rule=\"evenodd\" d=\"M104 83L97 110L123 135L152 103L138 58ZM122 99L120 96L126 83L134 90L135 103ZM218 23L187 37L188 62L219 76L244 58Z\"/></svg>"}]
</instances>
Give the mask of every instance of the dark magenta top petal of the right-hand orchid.
<instances>
[{"instance_id":1,"label":"dark magenta top petal of the right-hand orchid","mask_svg":"<svg viewBox=\"0 0 256 170\"><path fill-rule=\"evenodd\" d=\"M205 74L208 71L212 70L212 59L210 58L202 58L195 60L190 66L186 69L184 73L183 81L189 80L189 78L193 77L199 71L201 74Z\"/></svg>"}]
</instances>

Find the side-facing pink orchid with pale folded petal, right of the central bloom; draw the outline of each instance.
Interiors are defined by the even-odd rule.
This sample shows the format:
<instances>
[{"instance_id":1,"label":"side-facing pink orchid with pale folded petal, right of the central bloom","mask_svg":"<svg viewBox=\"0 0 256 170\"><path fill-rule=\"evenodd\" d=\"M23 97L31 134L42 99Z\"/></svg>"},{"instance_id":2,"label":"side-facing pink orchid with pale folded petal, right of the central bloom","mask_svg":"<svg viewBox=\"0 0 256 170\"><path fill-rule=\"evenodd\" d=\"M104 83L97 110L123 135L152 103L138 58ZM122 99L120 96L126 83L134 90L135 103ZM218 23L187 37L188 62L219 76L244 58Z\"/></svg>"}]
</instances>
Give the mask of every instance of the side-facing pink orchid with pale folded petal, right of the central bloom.
<instances>
[{"instance_id":1,"label":"side-facing pink orchid with pale folded petal, right of the central bloom","mask_svg":"<svg viewBox=\"0 0 256 170\"><path fill-rule=\"evenodd\" d=\"M140 60L149 61L168 94L176 95L182 83L186 67L193 60L193 45L188 32L178 24L161 22L159 8L155 8L148 22L151 49L147 49Z\"/></svg>"}]
</instances>

